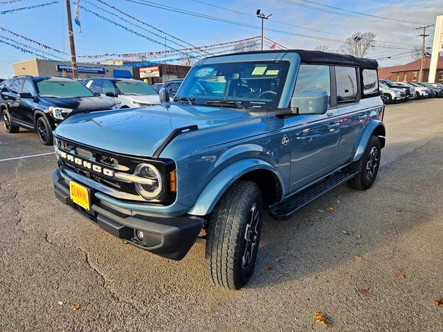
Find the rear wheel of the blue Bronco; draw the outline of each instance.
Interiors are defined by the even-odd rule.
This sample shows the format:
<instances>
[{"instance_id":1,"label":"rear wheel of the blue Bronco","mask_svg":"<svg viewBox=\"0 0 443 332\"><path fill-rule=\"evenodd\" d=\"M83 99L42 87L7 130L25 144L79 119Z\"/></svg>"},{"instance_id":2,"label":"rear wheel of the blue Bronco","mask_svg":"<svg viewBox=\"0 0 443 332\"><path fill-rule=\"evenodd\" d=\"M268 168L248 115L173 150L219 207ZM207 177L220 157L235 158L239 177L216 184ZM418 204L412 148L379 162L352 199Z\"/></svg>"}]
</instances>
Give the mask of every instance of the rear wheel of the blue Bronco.
<instances>
[{"instance_id":1,"label":"rear wheel of the blue Bronco","mask_svg":"<svg viewBox=\"0 0 443 332\"><path fill-rule=\"evenodd\" d=\"M381 145L377 136L371 136L363 156L354 165L357 174L349 182L356 190L367 190L374 184L379 172Z\"/></svg>"}]
</instances>

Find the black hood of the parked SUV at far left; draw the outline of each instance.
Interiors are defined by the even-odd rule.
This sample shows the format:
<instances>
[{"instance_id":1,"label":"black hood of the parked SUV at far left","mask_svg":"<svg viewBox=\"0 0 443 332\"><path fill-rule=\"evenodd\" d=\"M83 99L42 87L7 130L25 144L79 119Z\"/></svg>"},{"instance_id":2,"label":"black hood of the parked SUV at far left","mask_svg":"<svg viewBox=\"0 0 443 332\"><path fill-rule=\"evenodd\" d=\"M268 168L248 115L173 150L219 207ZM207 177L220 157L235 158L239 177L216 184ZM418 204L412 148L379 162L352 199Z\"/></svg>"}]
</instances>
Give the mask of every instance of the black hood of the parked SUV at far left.
<instances>
[{"instance_id":1,"label":"black hood of the parked SUV at far left","mask_svg":"<svg viewBox=\"0 0 443 332\"><path fill-rule=\"evenodd\" d=\"M42 102L54 107L73 109L74 111L97 111L111 109L116 102L101 97L49 98L42 97Z\"/></svg>"}]
</instances>

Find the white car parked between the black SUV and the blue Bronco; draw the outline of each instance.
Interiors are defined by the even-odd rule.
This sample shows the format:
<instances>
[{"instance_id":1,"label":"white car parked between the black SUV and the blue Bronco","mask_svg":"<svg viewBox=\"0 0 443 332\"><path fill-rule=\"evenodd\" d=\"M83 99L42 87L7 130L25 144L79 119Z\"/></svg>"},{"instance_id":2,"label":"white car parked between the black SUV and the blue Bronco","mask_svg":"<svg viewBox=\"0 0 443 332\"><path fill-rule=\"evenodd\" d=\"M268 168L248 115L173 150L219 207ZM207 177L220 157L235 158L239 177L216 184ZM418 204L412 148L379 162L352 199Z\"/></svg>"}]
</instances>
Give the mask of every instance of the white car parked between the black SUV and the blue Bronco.
<instances>
[{"instance_id":1,"label":"white car parked between the black SUV and the blue Bronco","mask_svg":"<svg viewBox=\"0 0 443 332\"><path fill-rule=\"evenodd\" d=\"M89 78L83 81L103 98L119 102L120 109L160 104L159 93L145 82L127 78Z\"/></svg>"}]
</instances>

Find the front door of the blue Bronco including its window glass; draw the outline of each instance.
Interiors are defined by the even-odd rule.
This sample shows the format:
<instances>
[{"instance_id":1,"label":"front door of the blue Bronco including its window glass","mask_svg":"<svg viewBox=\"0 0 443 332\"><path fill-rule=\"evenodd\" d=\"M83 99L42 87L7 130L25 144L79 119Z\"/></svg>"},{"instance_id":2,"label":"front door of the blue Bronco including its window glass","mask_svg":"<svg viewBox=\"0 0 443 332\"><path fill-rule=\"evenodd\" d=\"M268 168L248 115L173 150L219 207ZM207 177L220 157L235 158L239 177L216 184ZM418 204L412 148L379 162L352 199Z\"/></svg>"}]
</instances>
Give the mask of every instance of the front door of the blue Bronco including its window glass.
<instances>
[{"instance_id":1,"label":"front door of the blue Bronco including its window glass","mask_svg":"<svg viewBox=\"0 0 443 332\"><path fill-rule=\"evenodd\" d=\"M338 109L332 102L331 68L302 64L293 95L306 91L326 91L328 109L324 114L305 114L287 118L291 132L291 184L293 192L337 167L340 142Z\"/></svg>"}]
</instances>

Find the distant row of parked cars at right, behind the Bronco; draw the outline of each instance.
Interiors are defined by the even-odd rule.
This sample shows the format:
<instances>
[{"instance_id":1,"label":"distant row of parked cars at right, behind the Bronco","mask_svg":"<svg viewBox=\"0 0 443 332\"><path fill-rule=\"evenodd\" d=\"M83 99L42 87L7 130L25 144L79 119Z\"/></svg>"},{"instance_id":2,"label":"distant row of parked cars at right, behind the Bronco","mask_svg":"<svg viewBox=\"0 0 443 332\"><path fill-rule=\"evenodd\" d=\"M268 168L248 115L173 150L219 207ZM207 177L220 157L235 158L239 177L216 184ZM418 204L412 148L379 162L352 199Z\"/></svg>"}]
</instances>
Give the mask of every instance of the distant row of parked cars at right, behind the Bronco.
<instances>
[{"instance_id":1,"label":"distant row of parked cars at right, behind the Bronco","mask_svg":"<svg viewBox=\"0 0 443 332\"><path fill-rule=\"evenodd\" d=\"M379 89L385 104L406 102L410 99L443 97L443 84L419 82L392 82L379 80Z\"/></svg>"}]
</instances>

